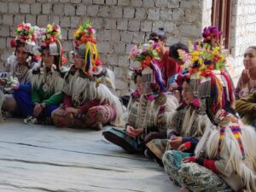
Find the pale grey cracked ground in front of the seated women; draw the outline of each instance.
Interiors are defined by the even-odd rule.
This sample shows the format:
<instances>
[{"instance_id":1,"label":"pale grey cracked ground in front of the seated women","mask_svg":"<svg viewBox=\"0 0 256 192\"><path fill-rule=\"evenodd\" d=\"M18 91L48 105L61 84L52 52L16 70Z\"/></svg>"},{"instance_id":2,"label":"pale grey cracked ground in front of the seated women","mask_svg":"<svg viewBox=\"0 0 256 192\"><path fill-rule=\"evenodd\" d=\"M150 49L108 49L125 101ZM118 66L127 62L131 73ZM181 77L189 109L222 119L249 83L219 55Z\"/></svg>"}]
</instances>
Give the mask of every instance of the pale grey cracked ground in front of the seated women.
<instances>
[{"instance_id":1,"label":"pale grey cracked ground in front of the seated women","mask_svg":"<svg viewBox=\"0 0 256 192\"><path fill-rule=\"evenodd\" d=\"M125 152L101 131L0 123L0 191L176 192L163 168Z\"/></svg>"}]
</instances>

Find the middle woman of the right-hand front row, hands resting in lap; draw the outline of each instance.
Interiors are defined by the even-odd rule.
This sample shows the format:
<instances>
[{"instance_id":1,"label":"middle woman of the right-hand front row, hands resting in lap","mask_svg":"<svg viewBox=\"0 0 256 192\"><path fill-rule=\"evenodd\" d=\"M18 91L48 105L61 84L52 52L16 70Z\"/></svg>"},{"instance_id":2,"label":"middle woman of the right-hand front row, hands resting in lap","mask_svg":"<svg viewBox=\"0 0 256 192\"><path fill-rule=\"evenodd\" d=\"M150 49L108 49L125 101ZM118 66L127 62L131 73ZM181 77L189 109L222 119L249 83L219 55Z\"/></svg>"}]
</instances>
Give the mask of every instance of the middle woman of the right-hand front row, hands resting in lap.
<instances>
[{"instance_id":1,"label":"middle woman of the right-hand front row, hands resting in lap","mask_svg":"<svg viewBox=\"0 0 256 192\"><path fill-rule=\"evenodd\" d=\"M162 156L166 150L177 150L192 155L205 130L207 116L199 110L199 100L195 98L189 87L188 75L189 73L177 75L177 84L179 86L182 84L183 103L170 119L167 137L154 139L147 143L148 154L160 162L160 165L162 165Z\"/></svg>"}]
</instances>

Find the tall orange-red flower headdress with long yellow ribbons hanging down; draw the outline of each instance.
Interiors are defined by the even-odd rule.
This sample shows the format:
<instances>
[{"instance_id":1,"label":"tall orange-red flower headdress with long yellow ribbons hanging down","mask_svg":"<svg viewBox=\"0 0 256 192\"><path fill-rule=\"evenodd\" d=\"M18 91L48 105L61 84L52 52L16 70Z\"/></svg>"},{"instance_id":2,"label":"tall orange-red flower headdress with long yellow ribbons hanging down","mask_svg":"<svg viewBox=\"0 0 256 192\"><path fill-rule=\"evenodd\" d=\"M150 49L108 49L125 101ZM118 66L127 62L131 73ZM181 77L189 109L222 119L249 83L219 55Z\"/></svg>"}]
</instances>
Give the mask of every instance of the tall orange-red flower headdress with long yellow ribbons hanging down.
<instances>
[{"instance_id":1,"label":"tall orange-red flower headdress with long yellow ribbons hanging down","mask_svg":"<svg viewBox=\"0 0 256 192\"><path fill-rule=\"evenodd\" d=\"M88 76L102 73L102 62L98 56L95 33L95 27L90 20L85 20L73 33L78 54L84 57L83 71Z\"/></svg>"}]
</instances>

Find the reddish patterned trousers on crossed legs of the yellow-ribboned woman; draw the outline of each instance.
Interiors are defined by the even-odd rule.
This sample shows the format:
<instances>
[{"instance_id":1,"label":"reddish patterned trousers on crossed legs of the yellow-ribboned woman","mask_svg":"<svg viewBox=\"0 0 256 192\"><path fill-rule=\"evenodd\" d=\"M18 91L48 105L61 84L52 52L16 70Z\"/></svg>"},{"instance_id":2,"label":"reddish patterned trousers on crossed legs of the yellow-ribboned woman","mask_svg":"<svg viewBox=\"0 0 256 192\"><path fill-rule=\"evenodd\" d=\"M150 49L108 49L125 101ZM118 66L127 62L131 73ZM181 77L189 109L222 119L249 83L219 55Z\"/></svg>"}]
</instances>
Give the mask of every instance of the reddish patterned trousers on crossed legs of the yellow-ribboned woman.
<instances>
[{"instance_id":1,"label":"reddish patterned trousers on crossed legs of the yellow-ribboned woman","mask_svg":"<svg viewBox=\"0 0 256 192\"><path fill-rule=\"evenodd\" d=\"M61 127L88 128L98 123L102 125L115 119L115 109L108 105L100 105L90 108L84 114L67 113L63 108L57 108L52 113L54 124Z\"/></svg>"}]
</instances>

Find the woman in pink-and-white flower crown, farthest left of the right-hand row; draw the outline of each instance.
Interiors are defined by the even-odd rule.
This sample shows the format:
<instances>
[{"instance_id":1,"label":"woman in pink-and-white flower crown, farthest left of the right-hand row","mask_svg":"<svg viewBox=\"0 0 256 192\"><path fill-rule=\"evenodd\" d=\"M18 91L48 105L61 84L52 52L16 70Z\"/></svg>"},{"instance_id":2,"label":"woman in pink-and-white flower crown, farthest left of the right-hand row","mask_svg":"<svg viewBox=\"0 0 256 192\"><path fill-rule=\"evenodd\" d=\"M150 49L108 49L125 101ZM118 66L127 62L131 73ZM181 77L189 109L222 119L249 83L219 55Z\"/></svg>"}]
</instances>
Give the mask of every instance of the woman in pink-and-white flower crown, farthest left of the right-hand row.
<instances>
[{"instance_id":1,"label":"woman in pink-and-white flower crown, farthest left of the right-hand row","mask_svg":"<svg viewBox=\"0 0 256 192\"><path fill-rule=\"evenodd\" d=\"M141 68L134 69L133 79L137 90L131 94L125 130L112 128L103 132L108 141L130 154L144 152L144 139L148 133L154 133L151 138L147 137L148 142L152 137L165 137L167 119L177 108L177 99L164 93L166 88L160 68L156 65L160 60L156 47L156 43L149 41L149 44L131 49L130 58L140 61Z\"/></svg>"}]
</instances>

